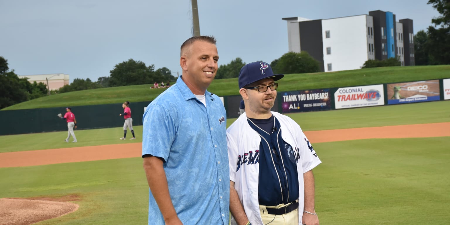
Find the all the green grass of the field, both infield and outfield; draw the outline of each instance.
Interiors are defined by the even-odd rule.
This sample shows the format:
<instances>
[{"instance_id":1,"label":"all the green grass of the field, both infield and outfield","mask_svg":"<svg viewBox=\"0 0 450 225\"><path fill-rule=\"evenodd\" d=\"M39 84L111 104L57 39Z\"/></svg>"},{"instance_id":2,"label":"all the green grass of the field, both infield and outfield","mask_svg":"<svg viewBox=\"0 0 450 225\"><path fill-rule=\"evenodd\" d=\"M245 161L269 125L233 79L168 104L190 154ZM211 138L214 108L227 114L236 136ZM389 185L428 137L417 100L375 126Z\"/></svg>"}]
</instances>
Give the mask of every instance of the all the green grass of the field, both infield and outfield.
<instances>
[{"instance_id":1,"label":"all the green grass of the field, both infield and outfield","mask_svg":"<svg viewBox=\"0 0 450 225\"><path fill-rule=\"evenodd\" d=\"M303 130L450 121L450 101L287 114ZM227 125L233 120L228 120ZM138 139L142 126L135 128ZM124 143L122 129L0 136L0 152ZM126 140L127 143L132 141ZM450 195L450 137L366 139L313 145L316 211L322 225L445 225ZM78 194L78 211L37 225L147 224L142 159L0 168L0 198Z\"/></svg>"}]
</instances>

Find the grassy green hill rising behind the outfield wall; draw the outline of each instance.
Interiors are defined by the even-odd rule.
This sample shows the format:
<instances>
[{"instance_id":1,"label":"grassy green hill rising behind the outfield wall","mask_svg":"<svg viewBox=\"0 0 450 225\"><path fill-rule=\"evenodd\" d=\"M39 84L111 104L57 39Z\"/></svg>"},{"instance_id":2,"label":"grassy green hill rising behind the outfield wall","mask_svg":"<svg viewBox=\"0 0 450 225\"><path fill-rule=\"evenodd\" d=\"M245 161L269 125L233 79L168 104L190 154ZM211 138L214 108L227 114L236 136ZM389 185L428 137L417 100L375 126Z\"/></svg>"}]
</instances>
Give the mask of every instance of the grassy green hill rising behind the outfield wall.
<instances>
[{"instance_id":1,"label":"grassy green hill rising behind the outfield wall","mask_svg":"<svg viewBox=\"0 0 450 225\"><path fill-rule=\"evenodd\" d=\"M287 74L278 81L280 84L278 90L306 90L441 78L450 78L450 65L379 67L339 72ZM151 101L165 90L150 89L151 86L153 84L54 94L18 103L2 110ZM208 90L219 96L237 95L239 94L238 78L213 81Z\"/></svg>"}]
</instances>

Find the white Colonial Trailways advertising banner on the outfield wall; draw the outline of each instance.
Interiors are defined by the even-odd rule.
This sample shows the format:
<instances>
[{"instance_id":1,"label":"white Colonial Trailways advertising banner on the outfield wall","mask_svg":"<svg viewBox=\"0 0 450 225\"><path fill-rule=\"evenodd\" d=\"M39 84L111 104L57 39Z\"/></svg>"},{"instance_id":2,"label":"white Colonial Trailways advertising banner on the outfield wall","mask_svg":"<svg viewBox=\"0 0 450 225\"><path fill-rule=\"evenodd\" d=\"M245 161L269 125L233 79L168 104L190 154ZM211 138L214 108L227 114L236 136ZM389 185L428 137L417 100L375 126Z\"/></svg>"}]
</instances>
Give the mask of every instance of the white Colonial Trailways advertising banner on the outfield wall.
<instances>
[{"instance_id":1,"label":"white Colonial Trailways advertising banner on the outfield wall","mask_svg":"<svg viewBox=\"0 0 450 225\"><path fill-rule=\"evenodd\" d=\"M334 106L338 109L384 105L383 93L383 85L339 88L334 93Z\"/></svg>"}]
</instances>

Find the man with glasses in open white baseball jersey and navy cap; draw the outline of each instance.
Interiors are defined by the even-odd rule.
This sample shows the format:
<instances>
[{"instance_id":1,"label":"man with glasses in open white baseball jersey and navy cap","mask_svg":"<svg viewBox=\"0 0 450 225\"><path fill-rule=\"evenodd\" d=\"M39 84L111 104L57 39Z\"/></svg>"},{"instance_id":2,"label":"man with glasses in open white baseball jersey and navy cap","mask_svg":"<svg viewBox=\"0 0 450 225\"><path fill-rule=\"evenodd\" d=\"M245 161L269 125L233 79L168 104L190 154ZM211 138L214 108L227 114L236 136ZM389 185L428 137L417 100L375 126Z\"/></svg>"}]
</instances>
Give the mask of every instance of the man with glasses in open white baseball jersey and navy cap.
<instances>
[{"instance_id":1,"label":"man with glasses in open white baseball jersey and navy cap","mask_svg":"<svg viewBox=\"0 0 450 225\"><path fill-rule=\"evenodd\" d=\"M320 160L295 121L270 111L283 76L265 62L239 72L245 112L226 134L233 224L319 224L311 170Z\"/></svg>"}]
</instances>

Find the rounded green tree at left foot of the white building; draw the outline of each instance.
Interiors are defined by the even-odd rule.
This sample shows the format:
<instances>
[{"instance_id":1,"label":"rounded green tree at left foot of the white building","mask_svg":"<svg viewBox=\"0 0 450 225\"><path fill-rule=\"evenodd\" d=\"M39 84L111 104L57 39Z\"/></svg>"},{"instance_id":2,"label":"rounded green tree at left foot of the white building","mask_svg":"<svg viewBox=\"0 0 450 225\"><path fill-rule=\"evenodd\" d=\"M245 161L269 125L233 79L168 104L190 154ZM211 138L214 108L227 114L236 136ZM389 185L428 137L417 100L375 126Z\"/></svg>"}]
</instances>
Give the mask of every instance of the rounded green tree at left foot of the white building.
<instances>
[{"instance_id":1,"label":"rounded green tree at left foot of the white building","mask_svg":"<svg viewBox=\"0 0 450 225\"><path fill-rule=\"evenodd\" d=\"M319 72L320 63L315 60L306 51L300 53L288 52L280 58L275 59L275 68L271 65L274 73L305 73L305 72Z\"/></svg>"}]
</instances>

